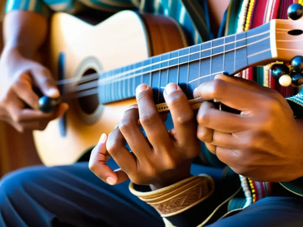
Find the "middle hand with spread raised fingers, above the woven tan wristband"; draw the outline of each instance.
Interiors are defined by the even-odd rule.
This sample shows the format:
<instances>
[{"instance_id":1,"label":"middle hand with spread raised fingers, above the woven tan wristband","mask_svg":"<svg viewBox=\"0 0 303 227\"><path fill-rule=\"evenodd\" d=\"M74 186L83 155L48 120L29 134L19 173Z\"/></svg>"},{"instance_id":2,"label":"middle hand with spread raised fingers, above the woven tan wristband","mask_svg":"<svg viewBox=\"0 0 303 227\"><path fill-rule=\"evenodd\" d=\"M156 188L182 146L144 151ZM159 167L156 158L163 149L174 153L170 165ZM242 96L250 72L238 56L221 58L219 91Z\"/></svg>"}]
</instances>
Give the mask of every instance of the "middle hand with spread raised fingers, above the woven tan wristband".
<instances>
[{"instance_id":1,"label":"middle hand with spread raised fingers, above the woven tan wristband","mask_svg":"<svg viewBox=\"0 0 303 227\"><path fill-rule=\"evenodd\" d=\"M92 151L90 169L110 184L129 178L135 184L151 185L152 189L189 177L192 158L200 152L200 141L196 136L193 110L181 88L168 84L164 91L174 123L174 129L169 132L155 106L151 87L139 85L136 98L138 106L125 111L122 121L108 135L107 141L102 139ZM147 137L142 133L138 120ZM121 168L115 172L105 164L105 141L108 153ZM132 153L125 147L125 142Z\"/></svg>"}]
</instances>

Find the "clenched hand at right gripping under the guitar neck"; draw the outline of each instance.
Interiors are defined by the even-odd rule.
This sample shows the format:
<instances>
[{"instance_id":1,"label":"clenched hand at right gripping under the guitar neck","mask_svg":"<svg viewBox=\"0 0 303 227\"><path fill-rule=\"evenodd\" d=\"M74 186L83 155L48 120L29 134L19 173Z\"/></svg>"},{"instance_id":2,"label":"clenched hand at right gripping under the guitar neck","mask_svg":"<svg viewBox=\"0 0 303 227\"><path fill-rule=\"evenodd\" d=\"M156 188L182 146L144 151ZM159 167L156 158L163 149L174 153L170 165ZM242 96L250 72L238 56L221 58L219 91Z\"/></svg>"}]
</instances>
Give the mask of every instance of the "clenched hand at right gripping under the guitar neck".
<instances>
[{"instance_id":1,"label":"clenched hand at right gripping under the guitar neck","mask_svg":"<svg viewBox=\"0 0 303 227\"><path fill-rule=\"evenodd\" d=\"M218 75L195 89L194 97L241 111L228 113L204 102L197 114L198 138L236 173L269 182L303 176L303 127L277 91Z\"/></svg>"}]
</instances>

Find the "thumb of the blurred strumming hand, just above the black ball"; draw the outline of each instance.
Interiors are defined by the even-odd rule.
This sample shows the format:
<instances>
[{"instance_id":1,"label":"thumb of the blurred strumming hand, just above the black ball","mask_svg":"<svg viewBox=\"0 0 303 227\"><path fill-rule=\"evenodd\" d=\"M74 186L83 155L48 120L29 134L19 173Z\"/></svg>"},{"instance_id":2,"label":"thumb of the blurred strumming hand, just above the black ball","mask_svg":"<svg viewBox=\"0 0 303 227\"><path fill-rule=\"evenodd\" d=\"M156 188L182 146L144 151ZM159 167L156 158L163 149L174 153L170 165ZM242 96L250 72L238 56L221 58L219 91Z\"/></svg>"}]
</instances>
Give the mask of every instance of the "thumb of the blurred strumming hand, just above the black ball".
<instances>
[{"instance_id":1,"label":"thumb of the blurred strumming hand, just above the black ball","mask_svg":"<svg viewBox=\"0 0 303 227\"><path fill-rule=\"evenodd\" d=\"M48 68L44 66L35 67L31 70L31 74L36 84L45 96L51 98L60 97L60 92L58 90L56 82L52 77L51 71Z\"/></svg>"}]
</instances>

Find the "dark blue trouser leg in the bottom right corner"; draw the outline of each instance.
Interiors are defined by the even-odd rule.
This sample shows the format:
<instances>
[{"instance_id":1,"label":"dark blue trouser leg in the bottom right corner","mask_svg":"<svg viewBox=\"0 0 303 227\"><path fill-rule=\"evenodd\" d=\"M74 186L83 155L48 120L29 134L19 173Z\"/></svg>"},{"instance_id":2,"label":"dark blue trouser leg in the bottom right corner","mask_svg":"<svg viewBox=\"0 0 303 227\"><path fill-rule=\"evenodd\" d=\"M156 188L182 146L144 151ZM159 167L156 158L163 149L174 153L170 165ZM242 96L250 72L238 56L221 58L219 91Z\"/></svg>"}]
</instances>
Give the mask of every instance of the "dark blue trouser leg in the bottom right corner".
<instances>
[{"instance_id":1,"label":"dark blue trouser leg in the bottom right corner","mask_svg":"<svg viewBox=\"0 0 303 227\"><path fill-rule=\"evenodd\" d=\"M301 227L303 199L267 197L209 227Z\"/></svg>"}]
</instances>

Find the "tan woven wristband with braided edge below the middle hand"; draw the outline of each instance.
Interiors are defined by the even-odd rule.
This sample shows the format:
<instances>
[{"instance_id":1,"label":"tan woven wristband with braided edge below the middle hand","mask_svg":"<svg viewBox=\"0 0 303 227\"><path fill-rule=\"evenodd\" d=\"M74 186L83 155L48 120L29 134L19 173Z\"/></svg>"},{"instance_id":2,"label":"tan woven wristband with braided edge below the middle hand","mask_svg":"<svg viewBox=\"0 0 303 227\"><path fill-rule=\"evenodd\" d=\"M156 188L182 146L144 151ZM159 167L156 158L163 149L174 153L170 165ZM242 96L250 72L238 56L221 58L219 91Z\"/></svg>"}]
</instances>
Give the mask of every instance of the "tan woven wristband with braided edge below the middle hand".
<instances>
[{"instance_id":1,"label":"tan woven wristband with braided edge below the middle hand","mask_svg":"<svg viewBox=\"0 0 303 227\"><path fill-rule=\"evenodd\" d=\"M192 176L173 185L151 192L138 192L129 184L130 192L154 207L161 217L179 214L207 199L215 189L208 175Z\"/></svg>"}]
</instances>

